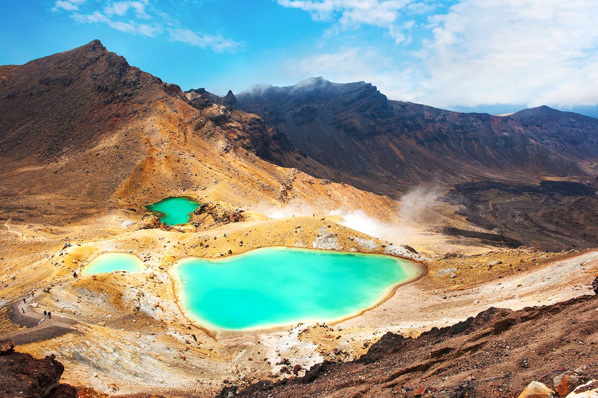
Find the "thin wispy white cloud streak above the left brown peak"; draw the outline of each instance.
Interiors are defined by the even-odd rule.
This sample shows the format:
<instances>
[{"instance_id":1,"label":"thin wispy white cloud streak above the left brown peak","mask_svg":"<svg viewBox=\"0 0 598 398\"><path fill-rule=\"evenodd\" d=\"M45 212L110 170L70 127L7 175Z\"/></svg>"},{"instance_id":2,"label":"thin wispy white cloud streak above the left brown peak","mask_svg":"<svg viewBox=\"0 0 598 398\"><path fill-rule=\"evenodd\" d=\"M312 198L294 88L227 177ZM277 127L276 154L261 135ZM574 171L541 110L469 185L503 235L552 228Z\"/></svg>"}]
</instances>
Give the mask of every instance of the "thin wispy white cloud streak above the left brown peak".
<instances>
[{"instance_id":1,"label":"thin wispy white cloud streak above the left brown peak","mask_svg":"<svg viewBox=\"0 0 598 398\"><path fill-rule=\"evenodd\" d=\"M225 38L221 33L210 35L185 27L149 0L108 1L98 8L98 2L85 4L86 0L58 0L53 11L69 13L78 23L106 24L119 32L154 38L167 32L171 41L183 42L194 47L206 48L216 53L234 52L242 43ZM88 7L82 7L87 5ZM86 8L86 10L82 10Z\"/></svg>"}]
</instances>

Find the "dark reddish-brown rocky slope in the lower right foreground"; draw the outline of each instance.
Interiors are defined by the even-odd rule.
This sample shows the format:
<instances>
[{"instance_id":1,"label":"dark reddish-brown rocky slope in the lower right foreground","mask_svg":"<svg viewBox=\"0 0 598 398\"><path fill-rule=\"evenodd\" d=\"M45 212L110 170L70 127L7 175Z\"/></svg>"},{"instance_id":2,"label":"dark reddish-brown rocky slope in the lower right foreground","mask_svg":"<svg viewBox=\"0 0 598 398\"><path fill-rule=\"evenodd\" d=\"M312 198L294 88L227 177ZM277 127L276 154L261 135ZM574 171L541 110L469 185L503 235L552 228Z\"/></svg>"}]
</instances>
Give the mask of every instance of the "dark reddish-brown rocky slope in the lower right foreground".
<instances>
[{"instance_id":1,"label":"dark reddish-brown rocky slope in the lower right foreground","mask_svg":"<svg viewBox=\"0 0 598 398\"><path fill-rule=\"evenodd\" d=\"M595 295L489 308L418 338L388 333L353 362L325 362L305 377L240 391L225 387L219 397L596 397L597 311Z\"/></svg>"}]
</instances>

